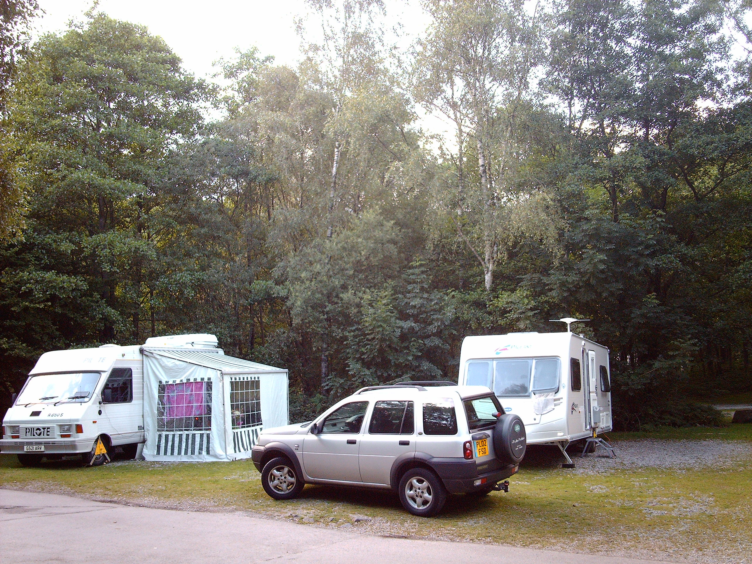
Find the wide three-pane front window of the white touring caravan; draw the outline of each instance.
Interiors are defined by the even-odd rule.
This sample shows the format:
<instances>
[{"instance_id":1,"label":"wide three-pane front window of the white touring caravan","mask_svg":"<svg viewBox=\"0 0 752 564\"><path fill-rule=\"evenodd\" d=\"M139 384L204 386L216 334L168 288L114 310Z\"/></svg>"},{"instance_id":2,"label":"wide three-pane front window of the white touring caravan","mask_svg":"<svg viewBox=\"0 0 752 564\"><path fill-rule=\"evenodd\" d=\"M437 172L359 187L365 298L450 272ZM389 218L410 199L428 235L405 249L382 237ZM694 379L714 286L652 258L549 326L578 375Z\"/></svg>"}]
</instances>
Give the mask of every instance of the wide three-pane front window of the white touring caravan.
<instances>
[{"instance_id":1,"label":"wide three-pane front window of the white touring caravan","mask_svg":"<svg viewBox=\"0 0 752 564\"><path fill-rule=\"evenodd\" d=\"M467 385L486 386L500 398L529 397L559 390L557 358L494 359L468 362Z\"/></svg>"}]
</instances>

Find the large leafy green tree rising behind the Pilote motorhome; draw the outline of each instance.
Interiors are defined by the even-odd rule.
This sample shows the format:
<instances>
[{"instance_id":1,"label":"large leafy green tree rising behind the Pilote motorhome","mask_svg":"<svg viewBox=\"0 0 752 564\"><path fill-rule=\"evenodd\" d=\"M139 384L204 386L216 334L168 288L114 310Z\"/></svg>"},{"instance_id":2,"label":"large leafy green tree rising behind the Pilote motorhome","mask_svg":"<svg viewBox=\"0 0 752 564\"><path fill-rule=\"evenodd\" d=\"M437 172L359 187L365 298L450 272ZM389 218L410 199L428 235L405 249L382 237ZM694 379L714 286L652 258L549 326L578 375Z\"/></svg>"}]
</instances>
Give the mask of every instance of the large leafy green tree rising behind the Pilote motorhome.
<instances>
[{"instance_id":1,"label":"large leafy green tree rising behind the Pilote motorhome","mask_svg":"<svg viewBox=\"0 0 752 564\"><path fill-rule=\"evenodd\" d=\"M139 337L165 271L163 179L203 96L164 41L103 14L25 56L8 111L28 228L0 262L11 371L50 348Z\"/></svg>"}]
</instances>

